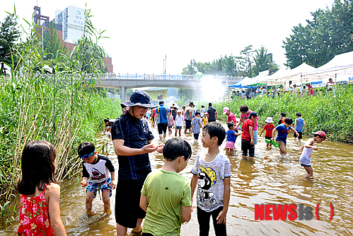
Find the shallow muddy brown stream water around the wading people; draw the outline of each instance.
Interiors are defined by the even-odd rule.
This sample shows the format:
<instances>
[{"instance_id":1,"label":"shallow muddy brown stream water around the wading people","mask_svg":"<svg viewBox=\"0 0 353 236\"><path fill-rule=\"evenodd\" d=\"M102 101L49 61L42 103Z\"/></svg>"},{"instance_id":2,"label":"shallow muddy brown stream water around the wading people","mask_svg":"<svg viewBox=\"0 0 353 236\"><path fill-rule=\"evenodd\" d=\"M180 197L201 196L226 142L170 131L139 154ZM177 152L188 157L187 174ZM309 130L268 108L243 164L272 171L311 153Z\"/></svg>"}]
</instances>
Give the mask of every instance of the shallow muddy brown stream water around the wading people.
<instances>
[{"instance_id":1,"label":"shallow muddy brown stream water around the wading people","mask_svg":"<svg viewBox=\"0 0 353 236\"><path fill-rule=\"evenodd\" d=\"M226 125L224 124L226 128ZM151 128L156 139L158 132ZM172 136L168 135L167 140ZM201 141L193 142L193 136L185 135L192 145L192 157L186 169L180 172L191 179L190 170L196 154L204 152ZM306 140L306 137L304 137ZM293 137L287 139L287 156L280 157L276 147L266 148L264 137L259 137L255 147L255 160L241 158L240 138L236 149L228 157L231 161L231 201L229 203L227 230L228 235L353 235L353 145L324 141L313 151L311 164L313 177L303 179L306 174L299 164L299 145ZM221 145L221 152L224 152ZM110 142L110 159L118 167L117 158ZM150 154L152 169L163 166L161 154ZM115 230L115 191L113 191L112 214L103 212L103 202L97 196L93 201L95 215L85 214L85 190L81 179L74 178L62 183L60 207L62 220L68 235L116 235ZM129 194L117 193L117 194ZM196 202L194 196L194 204ZM320 203L320 220L255 220L255 204L303 204L315 209ZM330 221L330 203L335 215ZM124 204L124 203L120 203ZM18 219L18 217L17 217ZM211 227L212 228L212 227ZM17 225L0 230L0 235L16 235ZM196 212L192 220L182 225L181 235L198 235ZM210 235L214 235L214 232Z\"/></svg>"}]
</instances>

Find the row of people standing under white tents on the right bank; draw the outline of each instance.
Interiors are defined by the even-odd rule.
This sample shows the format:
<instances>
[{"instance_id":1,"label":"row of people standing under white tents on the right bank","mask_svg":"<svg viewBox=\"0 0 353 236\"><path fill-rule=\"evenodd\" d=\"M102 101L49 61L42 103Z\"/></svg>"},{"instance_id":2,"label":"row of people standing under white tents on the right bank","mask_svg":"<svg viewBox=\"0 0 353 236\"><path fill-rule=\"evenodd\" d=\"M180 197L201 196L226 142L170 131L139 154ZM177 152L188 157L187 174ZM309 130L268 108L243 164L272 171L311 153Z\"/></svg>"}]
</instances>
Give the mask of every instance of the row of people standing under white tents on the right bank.
<instances>
[{"instance_id":1,"label":"row of people standing under white tents on the right bank","mask_svg":"<svg viewBox=\"0 0 353 236\"><path fill-rule=\"evenodd\" d=\"M282 94L293 94L295 98L305 97L305 96L314 96L319 93L323 93L325 91L332 91L335 89L335 82L333 82L332 78L326 83L326 86L323 88L314 89L311 83L306 83L303 85L301 89L299 89L296 84L289 84L288 89L284 89L283 85L279 86L270 86L267 90L267 86L257 86L257 89L249 89L248 92L245 89L241 91L232 91L231 99L253 99L255 96L267 96L274 99L276 96L281 96Z\"/></svg>"}]
</instances>

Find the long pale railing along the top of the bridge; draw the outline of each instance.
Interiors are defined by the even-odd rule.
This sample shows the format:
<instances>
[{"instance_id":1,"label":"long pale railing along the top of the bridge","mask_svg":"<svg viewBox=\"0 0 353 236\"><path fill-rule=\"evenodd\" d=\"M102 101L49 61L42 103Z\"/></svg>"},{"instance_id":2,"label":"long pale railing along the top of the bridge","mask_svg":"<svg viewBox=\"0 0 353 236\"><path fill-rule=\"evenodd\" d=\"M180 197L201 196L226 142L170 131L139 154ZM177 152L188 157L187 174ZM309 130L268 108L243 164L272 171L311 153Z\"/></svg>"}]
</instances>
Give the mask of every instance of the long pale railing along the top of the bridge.
<instances>
[{"instance_id":1,"label":"long pale railing along the top of the bridge","mask_svg":"<svg viewBox=\"0 0 353 236\"><path fill-rule=\"evenodd\" d=\"M194 80L199 81L202 78L213 78L221 81L239 82L243 77L226 77L212 75L190 75L190 74L86 74L86 79L146 79L146 80Z\"/></svg>"}]
</instances>

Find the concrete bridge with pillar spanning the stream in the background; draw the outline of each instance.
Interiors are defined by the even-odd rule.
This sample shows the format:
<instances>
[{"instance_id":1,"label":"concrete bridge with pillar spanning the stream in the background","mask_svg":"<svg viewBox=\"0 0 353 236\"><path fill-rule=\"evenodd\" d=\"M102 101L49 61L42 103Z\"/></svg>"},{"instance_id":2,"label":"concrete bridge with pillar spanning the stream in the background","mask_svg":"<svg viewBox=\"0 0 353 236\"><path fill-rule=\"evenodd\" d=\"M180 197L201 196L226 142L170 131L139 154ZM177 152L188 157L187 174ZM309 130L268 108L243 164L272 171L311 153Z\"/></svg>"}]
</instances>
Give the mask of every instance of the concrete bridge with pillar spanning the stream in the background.
<instances>
[{"instance_id":1,"label":"concrete bridge with pillar spanning the stream in the background","mask_svg":"<svg viewBox=\"0 0 353 236\"><path fill-rule=\"evenodd\" d=\"M221 82L221 86L240 82L243 77L220 77L209 75L185 75L185 74L86 74L86 79L96 87L121 88L122 102L126 101L126 89L137 87L173 87L183 89L201 88L202 82ZM214 79L214 80L213 80ZM218 88L217 88L218 89Z\"/></svg>"}]
</instances>

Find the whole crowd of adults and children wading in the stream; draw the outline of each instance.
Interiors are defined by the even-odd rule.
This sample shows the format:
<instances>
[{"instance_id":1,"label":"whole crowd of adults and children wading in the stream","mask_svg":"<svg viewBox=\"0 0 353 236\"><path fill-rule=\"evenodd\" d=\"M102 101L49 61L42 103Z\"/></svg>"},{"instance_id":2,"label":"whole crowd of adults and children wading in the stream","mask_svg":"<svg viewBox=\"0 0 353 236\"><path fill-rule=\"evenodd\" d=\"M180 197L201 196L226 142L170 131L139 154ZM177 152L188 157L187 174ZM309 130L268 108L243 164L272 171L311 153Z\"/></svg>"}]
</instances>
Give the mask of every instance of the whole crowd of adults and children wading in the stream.
<instances>
[{"instance_id":1,"label":"whole crowd of adults and children wading in the stream","mask_svg":"<svg viewBox=\"0 0 353 236\"><path fill-rule=\"evenodd\" d=\"M231 198L231 164L226 152L234 150L236 139L241 135L242 157L254 159L259 128L257 113L241 106L237 121L234 113L225 107L226 130L216 122L217 111L212 103L208 104L207 110L204 106L197 110L192 102L179 109L175 104L167 108L163 101L156 107L150 101L145 91L134 91L129 101L121 104L122 116L116 120L104 120L105 133L109 133L112 139L119 162L117 181L115 167L108 157L98 154L92 142L79 145L78 154L83 166L81 186L86 187L87 213L91 214L93 198L99 192L103 196L105 211L109 213L112 189L117 189L115 221L118 236L125 236L127 228L139 235L180 235L181 224L191 218L192 196L196 191L199 235L209 235L211 216L216 235L226 235ZM267 147L277 145L280 154L286 154L289 130L299 142L303 128L306 130L301 113L296 113L294 127L293 120L286 115L281 113L276 127L272 118L267 118L262 130L262 133L265 131ZM166 138L167 130L175 137L165 144L158 144L151 133L155 123L160 140ZM205 152L197 153L191 183L178 174L187 167L192 154L190 144L181 138L183 128L184 133L194 135L195 141L201 135L202 145L206 148ZM301 147L299 162L307 172L304 177L313 175L311 153L318 150L315 143L325 138L325 133L318 131ZM220 149L224 140L226 152ZM165 163L161 169L152 171L151 152L163 153ZM18 186L21 193L18 235L66 235L59 210L60 186L54 178L55 157L54 147L49 142L33 141L25 145L21 156L22 179ZM124 194L127 192L129 194Z\"/></svg>"}]
</instances>

